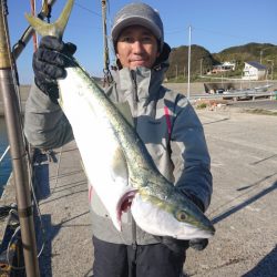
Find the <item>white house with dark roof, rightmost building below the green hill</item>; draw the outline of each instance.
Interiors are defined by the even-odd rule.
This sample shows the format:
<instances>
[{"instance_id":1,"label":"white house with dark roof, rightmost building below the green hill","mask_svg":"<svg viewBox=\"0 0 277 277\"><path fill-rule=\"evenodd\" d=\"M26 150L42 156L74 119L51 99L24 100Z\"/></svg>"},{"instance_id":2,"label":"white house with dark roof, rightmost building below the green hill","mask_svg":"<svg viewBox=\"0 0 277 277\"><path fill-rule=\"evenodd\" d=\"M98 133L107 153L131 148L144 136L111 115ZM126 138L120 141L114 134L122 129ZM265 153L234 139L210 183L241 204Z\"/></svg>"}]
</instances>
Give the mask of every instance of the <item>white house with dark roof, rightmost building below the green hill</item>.
<instances>
[{"instance_id":1,"label":"white house with dark roof, rightmost building below the green hill","mask_svg":"<svg viewBox=\"0 0 277 277\"><path fill-rule=\"evenodd\" d=\"M243 80L265 80L267 68L258 62L245 62Z\"/></svg>"}]
</instances>

